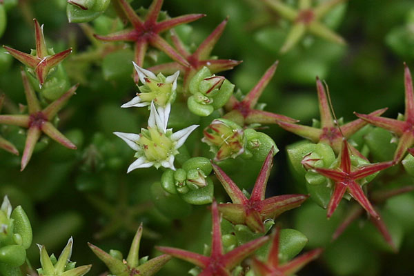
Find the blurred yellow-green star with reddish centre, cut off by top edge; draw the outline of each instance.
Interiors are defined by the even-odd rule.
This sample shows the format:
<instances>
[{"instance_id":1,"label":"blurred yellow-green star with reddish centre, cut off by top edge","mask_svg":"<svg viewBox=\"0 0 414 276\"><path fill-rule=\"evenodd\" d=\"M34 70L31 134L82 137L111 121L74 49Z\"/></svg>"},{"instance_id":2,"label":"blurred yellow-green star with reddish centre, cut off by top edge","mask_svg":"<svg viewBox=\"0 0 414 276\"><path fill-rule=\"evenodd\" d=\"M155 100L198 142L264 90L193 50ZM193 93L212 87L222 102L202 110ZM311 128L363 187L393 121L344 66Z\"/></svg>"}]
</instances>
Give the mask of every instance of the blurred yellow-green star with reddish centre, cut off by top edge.
<instances>
[{"instance_id":1,"label":"blurred yellow-green star with reddish centre, cut off by top edge","mask_svg":"<svg viewBox=\"0 0 414 276\"><path fill-rule=\"evenodd\" d=\"M281 17L293 23L286 37L281 53L288 52L302 39L306 32L316 37L321 37L338 44L345 44L345 40L322 23L324 16L335 6L346 0L323 1L318 6L312 7L311 0L299 1L297 9L283 3L281 0L263 0L270 8L275 10Z\"/></svg>"}]
</instances>

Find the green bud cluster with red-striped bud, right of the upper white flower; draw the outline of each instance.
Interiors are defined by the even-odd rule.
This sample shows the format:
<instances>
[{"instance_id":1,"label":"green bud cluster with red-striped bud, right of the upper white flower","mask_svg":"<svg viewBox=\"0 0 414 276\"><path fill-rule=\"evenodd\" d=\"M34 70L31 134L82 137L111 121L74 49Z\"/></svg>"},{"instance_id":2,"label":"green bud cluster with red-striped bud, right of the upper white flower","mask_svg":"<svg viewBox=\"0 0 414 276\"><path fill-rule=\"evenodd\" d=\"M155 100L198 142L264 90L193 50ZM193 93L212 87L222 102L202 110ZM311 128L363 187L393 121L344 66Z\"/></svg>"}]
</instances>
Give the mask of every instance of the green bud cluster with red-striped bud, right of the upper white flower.
<instances>
[{"instance_id":1,"label":"green bud cluster with red-striped bud, right of the upper white flower","mask_svg":"<svg viewBox=\"0 0 414 276\"><path fill-rule=\"evenodd\" d=\"M208 116L224 106L233 95L235 86L225 77L212 75L207 67L203 67L190 81L188 109L195 115Z\"/></svg>"}]
</instances>

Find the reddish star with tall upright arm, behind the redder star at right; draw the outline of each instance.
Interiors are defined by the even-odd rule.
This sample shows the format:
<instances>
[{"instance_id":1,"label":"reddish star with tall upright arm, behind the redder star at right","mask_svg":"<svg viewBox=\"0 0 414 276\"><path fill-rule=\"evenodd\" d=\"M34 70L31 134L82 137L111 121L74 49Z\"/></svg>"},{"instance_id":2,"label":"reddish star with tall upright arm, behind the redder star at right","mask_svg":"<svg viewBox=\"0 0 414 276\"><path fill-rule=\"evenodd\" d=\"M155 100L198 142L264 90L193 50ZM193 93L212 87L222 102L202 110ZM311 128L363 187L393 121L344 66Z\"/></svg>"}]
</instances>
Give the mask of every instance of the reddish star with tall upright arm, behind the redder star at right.
<instances>
[{"instance_id":1,"label":"reddish star with tall upright arm, behind the redder star at right","mask_svg":"<svg viewBox=\"0 0 414 276\"><path fill-rule=\"evenodd\" d=\"M313 143L317 144L323 142L331 146L333 151L336 154L339 154L342 148L342 135L346 139L351 137L355 132L357 132L362 127L366 126L366 121L362 119L356 119L350 121L347 124L341 126L341 131L335 125L335 120L333 118L331 108L329 108L328 98L326 97L326 91L322 81L319 78L316 78L316 89L317 89L317 98L319 101L319 112L321 116L321 126L320 128L314 128L312 126L302 126L299 124L291 124L289 122L279 121L278 124L280 127L295 133L301 137L311 140ZM386 111L387 108L382 108L371 112L372 117L380 116ZM353 155L357 155L363 159L366 159L356 148L351 145L348 145L351 149Z\"/></svg>"}]
</instances>

